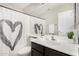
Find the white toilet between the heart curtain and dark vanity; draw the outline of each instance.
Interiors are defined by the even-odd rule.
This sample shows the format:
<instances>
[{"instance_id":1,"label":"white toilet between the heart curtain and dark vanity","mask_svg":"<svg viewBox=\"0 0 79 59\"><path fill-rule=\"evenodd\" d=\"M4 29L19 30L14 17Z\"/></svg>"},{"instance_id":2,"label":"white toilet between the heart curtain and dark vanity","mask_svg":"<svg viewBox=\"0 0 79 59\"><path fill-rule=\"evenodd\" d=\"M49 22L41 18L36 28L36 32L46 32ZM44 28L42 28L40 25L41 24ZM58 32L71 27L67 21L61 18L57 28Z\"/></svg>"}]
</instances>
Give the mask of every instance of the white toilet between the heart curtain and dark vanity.
<instances>
[{"instance_id":1,"label":"white toilet between the heart curtain and dark vanity","mask_svg":"<svg viewBox=\"0 0 79 59\"><path fill-rule=\"evenodd\" d=\"M18 51L17 56L31 56L31 47L24 47Z\"/></svg>"}]
</instances>

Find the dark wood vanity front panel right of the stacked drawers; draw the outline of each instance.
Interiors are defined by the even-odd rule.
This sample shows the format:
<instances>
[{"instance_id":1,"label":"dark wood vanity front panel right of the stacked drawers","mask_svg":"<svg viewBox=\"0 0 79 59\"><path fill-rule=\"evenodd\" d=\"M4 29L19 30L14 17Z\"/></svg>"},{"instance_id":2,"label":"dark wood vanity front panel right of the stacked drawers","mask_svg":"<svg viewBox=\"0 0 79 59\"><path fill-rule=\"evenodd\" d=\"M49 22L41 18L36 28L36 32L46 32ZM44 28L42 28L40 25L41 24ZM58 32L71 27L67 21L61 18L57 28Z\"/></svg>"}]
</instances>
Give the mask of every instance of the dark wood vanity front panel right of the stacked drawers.
<instances>
[{"instance_id":1,"label":"dark wood vanity front panel right of the stacked drawers","mask_svg":"<svg viewBox=\"0 0 79 59\"><path fill-rule=\"evenodd\" d=\"M45 48L45 55L46 56L69 56L68 54L65 54L50 48Z\"/></svg>"}]
</instances>

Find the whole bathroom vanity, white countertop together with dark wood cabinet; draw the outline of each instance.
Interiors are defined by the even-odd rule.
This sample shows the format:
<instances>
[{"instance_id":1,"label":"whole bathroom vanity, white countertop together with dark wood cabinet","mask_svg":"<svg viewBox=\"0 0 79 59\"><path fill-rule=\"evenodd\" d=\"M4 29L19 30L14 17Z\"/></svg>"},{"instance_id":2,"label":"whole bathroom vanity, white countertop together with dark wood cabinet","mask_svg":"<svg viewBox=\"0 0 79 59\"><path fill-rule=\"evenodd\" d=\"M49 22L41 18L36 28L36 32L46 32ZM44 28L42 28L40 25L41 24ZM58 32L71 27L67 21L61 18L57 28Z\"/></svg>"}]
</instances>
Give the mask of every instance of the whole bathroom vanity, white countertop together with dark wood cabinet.
<instances>
[{"instance_id":1,"label":"whole bathroom vanity, white countertop together with dark wood cabinet","mask_svg":"<svg viewBox=\"0 0 79 59\"><path fill-rule=\"evenodd\" d=\"M54 41L34 39L31 40L32 56L75 56L78 55L76 45L61 44Z\"/></svg>"}]
</instances>

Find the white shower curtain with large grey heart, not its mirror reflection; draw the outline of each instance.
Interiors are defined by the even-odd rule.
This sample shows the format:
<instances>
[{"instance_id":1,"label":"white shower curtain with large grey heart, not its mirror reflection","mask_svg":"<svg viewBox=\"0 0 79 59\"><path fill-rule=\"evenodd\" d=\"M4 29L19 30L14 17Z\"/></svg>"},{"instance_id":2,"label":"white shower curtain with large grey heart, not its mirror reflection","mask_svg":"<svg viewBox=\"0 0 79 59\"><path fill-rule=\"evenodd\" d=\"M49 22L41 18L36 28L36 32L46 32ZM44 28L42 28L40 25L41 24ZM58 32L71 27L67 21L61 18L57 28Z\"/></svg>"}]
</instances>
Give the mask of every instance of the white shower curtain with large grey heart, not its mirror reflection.
<instances>
[{"instance_id":1,"label":"white shower curtain with large grey heart, not its mirror reflection","mask_svg":"<svg viewBox=\"0 0 79 59\"><path fill-rule=\"evenodd\" d=\"M27 46L29 16L0 7L0 56L15 55Z\"/></svg>"}]
</instances>

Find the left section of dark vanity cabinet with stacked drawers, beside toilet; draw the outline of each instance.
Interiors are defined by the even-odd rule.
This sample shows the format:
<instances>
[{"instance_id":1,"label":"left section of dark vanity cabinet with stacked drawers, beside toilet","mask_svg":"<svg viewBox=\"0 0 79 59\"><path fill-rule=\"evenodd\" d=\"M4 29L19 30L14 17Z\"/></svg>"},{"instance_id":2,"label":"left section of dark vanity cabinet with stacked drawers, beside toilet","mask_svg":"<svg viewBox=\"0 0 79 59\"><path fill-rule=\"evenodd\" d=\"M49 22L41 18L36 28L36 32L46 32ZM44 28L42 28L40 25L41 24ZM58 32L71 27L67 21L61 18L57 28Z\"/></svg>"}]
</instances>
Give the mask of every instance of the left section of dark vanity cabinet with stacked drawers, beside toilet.
<instances>
[{"instance_id":1,"label":"left section of dark vanity cabinet with stacked drawers, beside toilet","mask_svg":"<svg viewBox=\"0 0 79 59\"><path fill-rule=\"evenodd\" d=\"M43 56L44 55L44 47L42 45L31 43L31 55L32 56Z\"/></svg>"}]
</instances>

